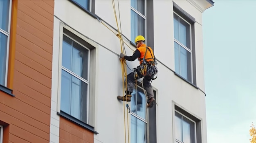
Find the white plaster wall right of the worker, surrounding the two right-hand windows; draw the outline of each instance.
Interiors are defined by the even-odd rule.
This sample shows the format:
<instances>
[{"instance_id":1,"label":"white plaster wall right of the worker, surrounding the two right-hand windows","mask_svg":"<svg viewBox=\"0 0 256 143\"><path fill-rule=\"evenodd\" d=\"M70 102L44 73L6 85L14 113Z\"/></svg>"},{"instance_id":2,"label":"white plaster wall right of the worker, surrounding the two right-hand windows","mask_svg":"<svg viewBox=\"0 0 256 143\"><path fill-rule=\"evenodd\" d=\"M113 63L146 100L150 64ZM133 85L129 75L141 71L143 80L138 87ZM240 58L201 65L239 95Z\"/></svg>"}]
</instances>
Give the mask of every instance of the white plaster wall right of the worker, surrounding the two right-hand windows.
<instances>
[{"instance_id":1,"label":"white plaster wall right of the worker, surrounding the two right-hand windows","mask_svg":"<svg viewBox=\"0 0 256 143\"><path fill-rule=\"evenodd\" d=\"M204 91L204 68L202 47L202 13L191 0L173 0L195 18L195 59L197 86ZM162 13L165 13L164 15ZM160 0L154 3L154 50L157 59L174 68L173 2ZM157 88L157 138L159 143L175 141L172 129L172 101L187 112L202 119L202 142L207 143L206 111L204 93L180 79L164 66L158 64L159 74L152 85ZM166 128L170 127L170 128ZM166 136L168 134L168 136Z\"/></svg>"}]
</instances>

